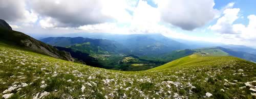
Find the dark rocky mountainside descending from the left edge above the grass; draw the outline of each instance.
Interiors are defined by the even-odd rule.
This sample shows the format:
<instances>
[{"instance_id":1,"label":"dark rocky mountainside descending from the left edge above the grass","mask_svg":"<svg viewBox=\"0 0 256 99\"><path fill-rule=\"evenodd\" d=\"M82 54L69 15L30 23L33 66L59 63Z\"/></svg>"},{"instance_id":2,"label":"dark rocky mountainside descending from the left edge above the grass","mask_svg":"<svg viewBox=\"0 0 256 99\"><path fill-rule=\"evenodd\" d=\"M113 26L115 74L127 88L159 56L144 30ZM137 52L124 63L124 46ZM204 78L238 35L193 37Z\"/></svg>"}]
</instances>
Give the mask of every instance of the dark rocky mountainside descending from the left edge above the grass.
<instances>
[{"instance_id":1,"label":"dark rocky mountainside descending from the left edge above the grass","mask_svg":"<svg viewBox=\"0 0 256 99\"><path fill-rule=\"evenodd\" d=\"M7 28L0 28L1 41L6 42L8 44L18 45L20 47L23 47L27 50L31 50L36 53L48 55L63 60L74 61L70 53L65 51L59 51L54 46L38 41L24 33L13 31L9 29L8 26L9 24L5 23L5 27Z\"/></svg>"}]
</instances>

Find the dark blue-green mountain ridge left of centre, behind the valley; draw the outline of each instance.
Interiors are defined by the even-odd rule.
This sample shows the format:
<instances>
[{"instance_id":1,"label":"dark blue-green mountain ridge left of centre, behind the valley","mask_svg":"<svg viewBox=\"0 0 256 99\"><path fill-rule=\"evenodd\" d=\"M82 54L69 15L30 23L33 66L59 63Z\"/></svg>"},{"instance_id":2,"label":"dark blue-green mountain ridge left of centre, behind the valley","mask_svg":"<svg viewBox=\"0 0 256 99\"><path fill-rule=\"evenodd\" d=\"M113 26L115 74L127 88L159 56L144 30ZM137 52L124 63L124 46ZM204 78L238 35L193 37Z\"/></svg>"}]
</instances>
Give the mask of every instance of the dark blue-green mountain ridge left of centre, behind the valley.
<instances>
[{"instance_id":1,"label":"dark blue-green mountain ridge left of centre, behind the valley","mask_svg":"<svg viewBox=\"0 0 256 99\"><path fill-rule=\"evenodd\" d=\"M108 53L129 53L121 44L106 39L91 39L83 37L49 37L40 41L61 47L70 47L74 50L88 54L108 54ZM93 51L92 53L90 53Z\"/></svg>"}]
</instances>

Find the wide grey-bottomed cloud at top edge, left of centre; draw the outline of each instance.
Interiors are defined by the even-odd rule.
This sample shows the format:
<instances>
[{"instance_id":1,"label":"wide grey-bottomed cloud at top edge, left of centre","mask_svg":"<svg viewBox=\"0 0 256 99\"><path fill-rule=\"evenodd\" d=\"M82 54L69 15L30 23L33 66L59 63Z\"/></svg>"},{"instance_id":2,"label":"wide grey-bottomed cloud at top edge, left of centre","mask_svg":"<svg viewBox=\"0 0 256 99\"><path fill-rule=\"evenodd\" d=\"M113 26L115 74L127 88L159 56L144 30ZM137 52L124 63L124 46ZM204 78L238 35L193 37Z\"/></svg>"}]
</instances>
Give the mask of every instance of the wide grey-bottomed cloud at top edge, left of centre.
<instances>
[{"instance_id":1,"label":"wide grey-bottomed cloud at top edge, left of centre","mask_svg":"<svg viewBox=\"0 0 256 99\"><path fill-rule=\"evenodd\" d=\"M31 4L42 17L58 21L56 27L79 27L130 17L125 11L125 3L117 0L34 0Z\"/></svg>"}]
</instances>

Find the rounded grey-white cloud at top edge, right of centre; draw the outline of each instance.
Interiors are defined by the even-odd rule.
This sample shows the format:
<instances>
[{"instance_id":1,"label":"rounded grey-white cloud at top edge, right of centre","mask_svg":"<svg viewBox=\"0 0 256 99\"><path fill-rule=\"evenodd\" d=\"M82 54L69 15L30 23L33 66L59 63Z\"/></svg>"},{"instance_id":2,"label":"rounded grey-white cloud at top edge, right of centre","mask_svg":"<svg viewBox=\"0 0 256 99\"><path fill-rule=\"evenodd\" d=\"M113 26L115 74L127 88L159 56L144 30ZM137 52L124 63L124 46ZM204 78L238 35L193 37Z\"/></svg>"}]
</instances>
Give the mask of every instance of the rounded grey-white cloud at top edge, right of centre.
<instances>
[{"instance_id":1,"label":"rounded grey-white cloud at top edge, right of centre","mask_svg":"<svg viewBox=\"0 0 256 99\"><path fill-rule=\"evenodd\" d=\"M214 9L214 0L155 0L163 21L184 30L193 30L212 20L218 10Z\"/></svg>"}]
</instances>

